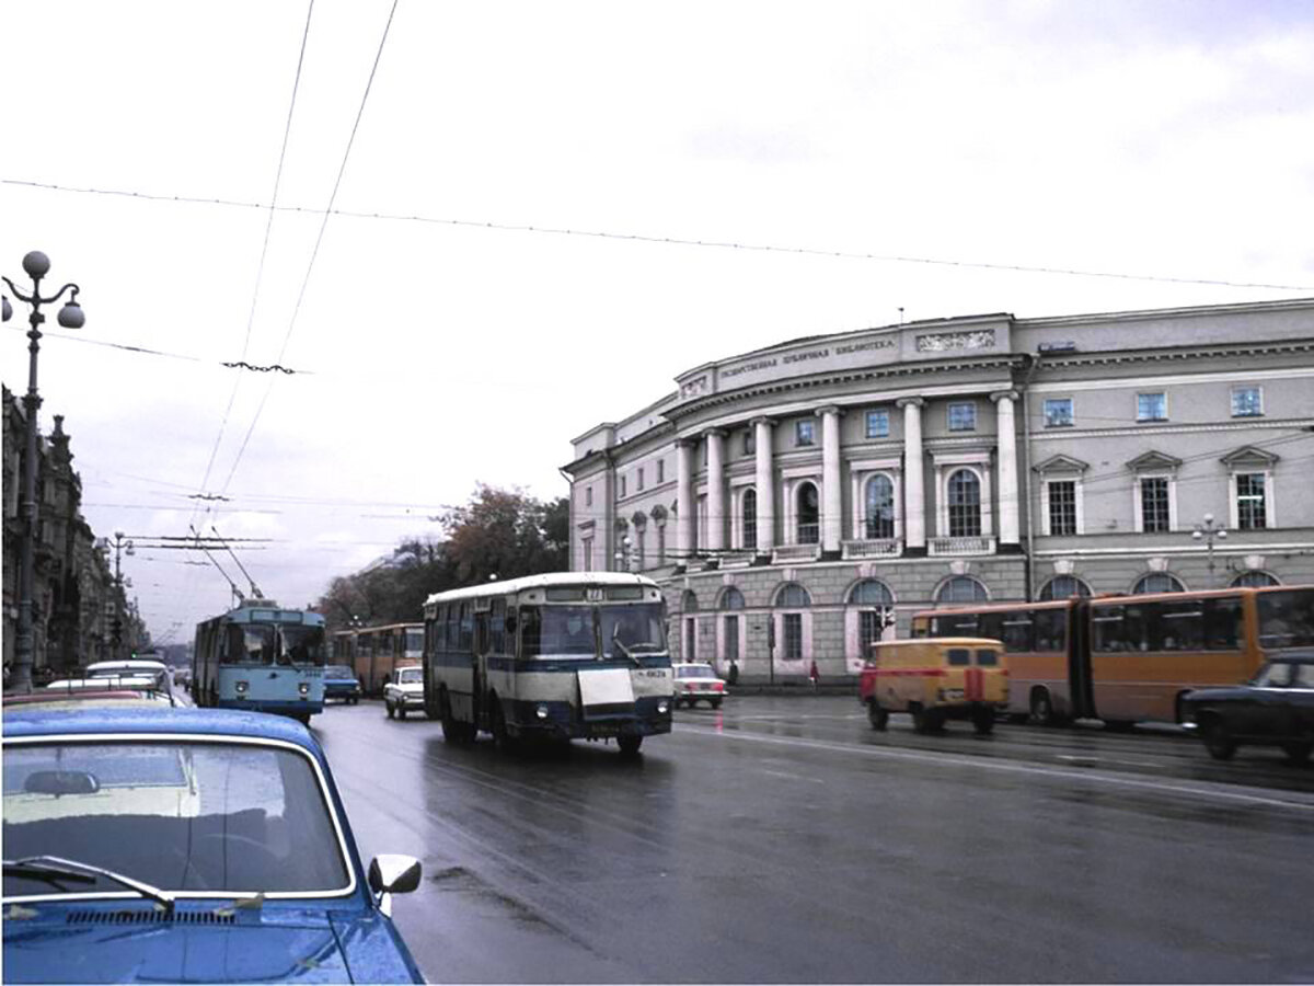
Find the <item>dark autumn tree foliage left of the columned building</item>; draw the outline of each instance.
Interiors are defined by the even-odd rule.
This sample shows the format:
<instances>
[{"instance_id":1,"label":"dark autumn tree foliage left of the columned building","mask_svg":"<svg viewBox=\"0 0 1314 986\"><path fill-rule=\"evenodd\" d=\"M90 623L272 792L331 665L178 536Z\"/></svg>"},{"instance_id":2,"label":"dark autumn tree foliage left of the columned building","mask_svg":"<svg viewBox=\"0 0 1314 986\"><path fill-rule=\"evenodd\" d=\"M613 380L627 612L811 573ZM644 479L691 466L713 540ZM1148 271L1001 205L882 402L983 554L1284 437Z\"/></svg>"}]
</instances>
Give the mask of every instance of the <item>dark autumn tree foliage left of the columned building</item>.
<instances>
[{"instance_id":1,"label":"dark autumn tree foliage left of the columned building","mask_svg":"<svg viewBox=\"0 0 1314 986\"><path fill-rule=\"evenodd\" d=\"M566 568L569 502L478 484L442 518L445 539L409 538L386 559L334 578L315 609L331 630L419 621L430 593Z\"/></svg>"}]
</instances>

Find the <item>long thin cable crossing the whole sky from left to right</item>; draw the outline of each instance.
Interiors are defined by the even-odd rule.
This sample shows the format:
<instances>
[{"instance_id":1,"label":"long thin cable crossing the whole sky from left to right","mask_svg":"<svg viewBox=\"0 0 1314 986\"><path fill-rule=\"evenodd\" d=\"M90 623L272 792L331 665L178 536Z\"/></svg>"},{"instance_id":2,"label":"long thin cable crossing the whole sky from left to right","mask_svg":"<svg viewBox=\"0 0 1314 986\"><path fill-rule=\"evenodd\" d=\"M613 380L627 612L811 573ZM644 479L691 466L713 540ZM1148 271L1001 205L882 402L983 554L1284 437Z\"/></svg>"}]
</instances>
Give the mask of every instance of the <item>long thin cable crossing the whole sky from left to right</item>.
<instances>
[{"instance_id":1,"label":"long thin cable crossing the whole sky from left to right","mask_svg":"<svg viewBox=\"0 0 1314 986\"><path fill-rule=\"evenodd\" d=\"M70 192L75 195L108 195L142 199L147 201L181 202L197 205L222 205L242 209L273 209L280 212L296 212L304 214L318 214L319 209L280 205L273 206L265 202L244 202L233 199L204 199L198 196L180 195L154 195L150 192L134 192L105 188L78 188L58 185L43 181L25 181L20 179L0 179L0 184L22 185L28 188L41 188L54 192ZM842 260L876 260L880 263L922 264L932 267L959 267L983 271L1001 271L1009 273L1047 273L1066 277L1104 277L1113 280L1151 281L1159 284L1196 284L1218 288L1264 288L1268 291L1300 291L1314 292L1310 284L1269 284L1264 281L1233 281L1221 277L1172 277L1154 273L1129 273L1126 271L1089 271L1070 267L1046 267L1041 264L1009 264L989 260L958 260L937 256L916 256L911 254L879 254L874 251L853 250L827 250L823 247L792 247L771 243L738 243L723 239L696 239L694 237L660 237L650 233L616 233L612 230L583 230L566 229L562 226L536 226L523 222L493 222L480 220L459 220L451 217L418 216L405 213L363 212L355 209L330 209L332 216L352 220L382 220L388 222L423 222L438 226L459 226L465 229L497 230L502 233L535 233L553 237L585 237L591 239L616 239L632 243L653 243L660 246L706 247L711 250L740 250L763 254L795 254L803 256L834 258Z\"/></svg>"}]
</instances>

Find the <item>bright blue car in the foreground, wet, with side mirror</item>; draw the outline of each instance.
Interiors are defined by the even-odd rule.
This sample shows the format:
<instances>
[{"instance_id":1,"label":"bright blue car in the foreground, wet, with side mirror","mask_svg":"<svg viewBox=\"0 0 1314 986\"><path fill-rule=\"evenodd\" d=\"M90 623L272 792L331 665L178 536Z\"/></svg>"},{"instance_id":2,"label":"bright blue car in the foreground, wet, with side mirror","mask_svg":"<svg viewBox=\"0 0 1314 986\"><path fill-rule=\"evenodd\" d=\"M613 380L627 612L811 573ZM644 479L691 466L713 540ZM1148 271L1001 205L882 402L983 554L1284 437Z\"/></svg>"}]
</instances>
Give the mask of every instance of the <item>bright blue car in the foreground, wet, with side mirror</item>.
<instances>
[{"instance_id":1,"label":"bright blue car in the foreground, wet, with side mirror","mask_svg":"<svg viewBox=\"0 0 1314 986\"><path fill-rule=\"evenodd\" d=\"M423 982L290 719L8 706L3 818L5 982Z\"/></svg>"}]
</instances>

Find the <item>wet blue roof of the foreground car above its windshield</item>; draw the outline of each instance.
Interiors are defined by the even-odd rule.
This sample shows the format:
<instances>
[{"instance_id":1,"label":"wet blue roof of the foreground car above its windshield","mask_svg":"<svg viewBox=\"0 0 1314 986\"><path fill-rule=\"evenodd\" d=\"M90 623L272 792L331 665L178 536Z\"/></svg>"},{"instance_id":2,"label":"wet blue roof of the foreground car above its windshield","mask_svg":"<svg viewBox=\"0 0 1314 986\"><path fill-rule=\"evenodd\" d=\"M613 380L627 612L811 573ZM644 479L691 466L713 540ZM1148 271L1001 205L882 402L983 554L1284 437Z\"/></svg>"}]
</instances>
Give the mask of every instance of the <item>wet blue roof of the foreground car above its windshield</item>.
<instances>
[{"instance_id":1,"label":"wet blue roof of the foreground car above its windshield","mask_svg":"<svg viewBox=\"0 0 1314 986\"><path fill-rule=\"evenodd\" d=\"M234 709L122 707L120 703L88 702L84 707L41 709L9 706L4 715L4 738L39 738L58 735L179 734L240 736L294 743L319 756L319 745L301 723L268 713L243 713Z\"/></svg>"}]
</instances>

